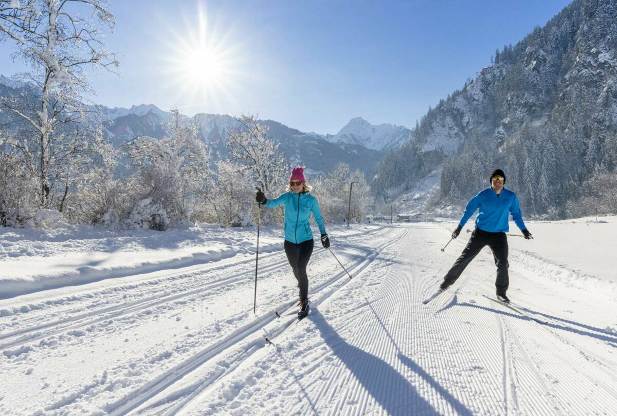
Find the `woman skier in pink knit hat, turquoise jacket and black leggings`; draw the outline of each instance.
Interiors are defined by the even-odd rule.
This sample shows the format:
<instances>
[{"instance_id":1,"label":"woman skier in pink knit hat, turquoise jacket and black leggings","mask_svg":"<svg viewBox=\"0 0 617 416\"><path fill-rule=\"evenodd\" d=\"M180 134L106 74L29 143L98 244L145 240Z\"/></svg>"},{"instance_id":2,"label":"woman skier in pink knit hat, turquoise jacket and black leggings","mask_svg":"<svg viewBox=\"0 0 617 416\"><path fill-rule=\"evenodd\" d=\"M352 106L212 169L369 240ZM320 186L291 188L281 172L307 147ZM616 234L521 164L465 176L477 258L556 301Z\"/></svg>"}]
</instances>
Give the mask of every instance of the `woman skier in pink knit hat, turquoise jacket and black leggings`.
<instances>
[{"instance_id":1,"label":"woman skier in pink knit hat, turquoise jacket and black leggings","mask_svg":"<svg viewBox=\"0 0 617 416\"><path fill-rule=\"evenodd\" d=\"M315 222L321 232L321 244L330 247L326 227L323 225L321 211L317 199L309 194L313 188L306 184L304 171L297 167L292 169L289 176L289 185L283 195L268 200L263 192L257 192L255 200L258 203L274 208L283 204L285 206L285 254L289 265L294 271L294 276L300 288L300 311L298 319L309 314L309 278L307 277L307 264L313 253L313 232L310 229L309 218L313 213Z\"/></svg>"}]
</instances>

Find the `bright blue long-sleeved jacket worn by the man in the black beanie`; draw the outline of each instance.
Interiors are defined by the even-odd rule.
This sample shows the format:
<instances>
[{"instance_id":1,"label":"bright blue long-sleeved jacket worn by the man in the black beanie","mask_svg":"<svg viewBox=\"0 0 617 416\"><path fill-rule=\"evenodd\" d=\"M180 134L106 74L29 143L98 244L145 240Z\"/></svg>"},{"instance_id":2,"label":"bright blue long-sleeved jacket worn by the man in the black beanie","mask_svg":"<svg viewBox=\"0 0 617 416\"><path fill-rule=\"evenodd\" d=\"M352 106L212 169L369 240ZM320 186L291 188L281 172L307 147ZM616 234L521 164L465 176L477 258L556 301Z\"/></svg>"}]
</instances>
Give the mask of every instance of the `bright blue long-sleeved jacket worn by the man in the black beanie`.
<instances>
[{"instance_id":1,"label":"bright blue long-sleeved jacket worn by the man in the black beanie","mask_svg":"<svg viewBox=\"0 0 617 416\"><path fill-rule=\"evenodd\" d=\"M484 189L478 192L475 197L467 203L463 218L458 223L465 226L467 220L478 211L476 216L476 227L488 232L508 232L508 216L511 213L512 219L521 231L527 229L523 222L523 213L518 203L518 197L508 189L502 189L499 195L492 189Z\"/></svg>"}]
</instances>

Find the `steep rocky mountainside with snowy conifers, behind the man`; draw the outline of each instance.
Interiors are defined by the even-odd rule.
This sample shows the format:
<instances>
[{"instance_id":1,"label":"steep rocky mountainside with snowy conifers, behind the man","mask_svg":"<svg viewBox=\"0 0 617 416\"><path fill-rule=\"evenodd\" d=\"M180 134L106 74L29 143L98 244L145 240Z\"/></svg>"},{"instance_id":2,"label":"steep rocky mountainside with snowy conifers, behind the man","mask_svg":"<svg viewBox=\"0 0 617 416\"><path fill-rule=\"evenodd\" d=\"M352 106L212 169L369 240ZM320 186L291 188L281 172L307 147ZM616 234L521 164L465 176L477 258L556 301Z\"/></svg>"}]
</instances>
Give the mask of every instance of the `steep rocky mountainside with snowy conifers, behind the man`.
<instances>
[{"instance_id":1,"label":"steep rocky mountainside with snowy conifers, behind the man","mask_svg":"<svg viewBox=\"0 0 617 416\"><path fill-rule=\"evenodd\" d=\"M582 215L573 202L597 196L586 184L617 174L615 1L576 0L493 60L384 156L373 189L386 197L404 182L407 194L443 165L434 202L457 203L499 167L524 212Z\"/></svg>"}]
</instances>

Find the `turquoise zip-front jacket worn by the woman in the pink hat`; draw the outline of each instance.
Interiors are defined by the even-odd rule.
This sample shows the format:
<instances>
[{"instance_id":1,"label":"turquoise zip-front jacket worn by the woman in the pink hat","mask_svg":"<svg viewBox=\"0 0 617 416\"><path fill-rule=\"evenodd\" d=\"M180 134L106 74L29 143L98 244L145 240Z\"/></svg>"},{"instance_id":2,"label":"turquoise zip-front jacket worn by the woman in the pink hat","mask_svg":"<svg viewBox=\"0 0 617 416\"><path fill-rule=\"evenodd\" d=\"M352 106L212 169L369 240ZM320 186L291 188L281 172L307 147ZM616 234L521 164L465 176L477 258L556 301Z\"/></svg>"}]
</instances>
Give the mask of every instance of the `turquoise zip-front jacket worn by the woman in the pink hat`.
<instances>
[{"instance_id":1,"label":"turquoise zip-front jacket worn by the woman in the pink hat","mask_svg":"<svg viewBox=\"0 0 617 416\"><path fill-rule=\"evenodd\" d=\"M290 190L278 198L267 200L264 205L268 208L274 208L281 204L285 207L285 240L298 244L313 239L313 232L309 224L311 213L315 217L315 222L317 222L321 234L326 234L319 203L313 195L308 192L296 194Z\"/></svg>"}]
</instances>

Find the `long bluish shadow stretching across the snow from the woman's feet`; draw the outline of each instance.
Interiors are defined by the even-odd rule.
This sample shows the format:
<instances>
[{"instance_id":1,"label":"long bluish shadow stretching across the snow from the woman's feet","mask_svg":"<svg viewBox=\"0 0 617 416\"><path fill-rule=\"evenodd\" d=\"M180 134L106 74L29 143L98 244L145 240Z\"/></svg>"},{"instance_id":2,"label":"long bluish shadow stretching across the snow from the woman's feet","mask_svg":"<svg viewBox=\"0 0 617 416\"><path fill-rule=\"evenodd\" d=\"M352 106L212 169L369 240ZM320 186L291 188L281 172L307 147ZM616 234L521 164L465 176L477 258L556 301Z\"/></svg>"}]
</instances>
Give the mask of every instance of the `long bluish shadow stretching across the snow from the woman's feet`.
<instances>
[{"instance_id":1,"label":"long bluish shadow stretching across the snow from the woman's feet","mask_svg":"<svg viewBox=\"0 0 617 416\"><path fill-rule=\"evenodd\" d=\"M360 385L366 389L388 415L438 414L431 403L418 394L415 387L394 369L392 365L343 340L328 324L328 321L326 321L317 308L313 309L309 317L317 326L321 338L323 338L326 345L341 359L343 364L352 372L354 378L358 380ZM412 370L418 372L420 367L417 364L413 363L411 359L401 356L402 354L399 352L401 361ZM424 377L424 374L430 378L423 370L418 372L418 374L422 377ZM433 379L431 378L431 380ZM433 380L431 386L439 385ZM471 415L462 404L458 404L460 407L454 404L453 407L455 409L464 409L465 412L462 412L462 414Z\"/></svg>"}]
</instances>

